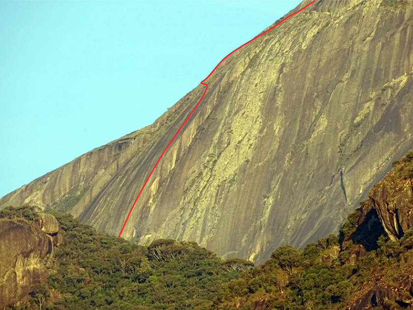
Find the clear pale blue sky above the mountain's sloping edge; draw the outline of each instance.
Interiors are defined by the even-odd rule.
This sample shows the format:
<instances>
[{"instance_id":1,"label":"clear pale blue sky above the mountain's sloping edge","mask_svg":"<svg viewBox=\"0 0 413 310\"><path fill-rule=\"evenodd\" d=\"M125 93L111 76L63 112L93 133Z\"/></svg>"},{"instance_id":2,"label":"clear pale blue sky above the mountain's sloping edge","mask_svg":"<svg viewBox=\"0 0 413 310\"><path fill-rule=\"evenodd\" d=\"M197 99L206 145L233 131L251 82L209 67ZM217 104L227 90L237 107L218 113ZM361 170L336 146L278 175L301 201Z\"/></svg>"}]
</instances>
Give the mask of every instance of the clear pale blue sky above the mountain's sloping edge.
<instances>
[{"instance_id":1,"label":"clear pale blue sky above the mountain's sloping edge","mask_svg":"<svg viewBox=\"0 0 413 310\"><path fill-rule=\"evenodd\" d=\"M299 2L0 1L0 196L153 123Z\"/></svg>"}]
</instances>

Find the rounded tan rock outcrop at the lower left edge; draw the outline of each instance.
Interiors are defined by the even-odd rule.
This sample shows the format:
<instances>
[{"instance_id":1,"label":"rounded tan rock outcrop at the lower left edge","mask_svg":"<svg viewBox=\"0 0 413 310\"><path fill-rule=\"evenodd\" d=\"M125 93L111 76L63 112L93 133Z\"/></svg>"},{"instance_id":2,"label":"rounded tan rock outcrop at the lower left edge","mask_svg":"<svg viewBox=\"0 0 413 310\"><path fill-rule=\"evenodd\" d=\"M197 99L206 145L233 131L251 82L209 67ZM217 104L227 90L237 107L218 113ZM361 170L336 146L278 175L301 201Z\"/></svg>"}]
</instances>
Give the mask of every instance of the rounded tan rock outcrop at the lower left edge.
<instances>
[{"instance_id":1,"label":"rounded tan rock outcrop at the lower left edge","mask_svg":"<svg viewBox=\"0 0 413 310\"><path fill-rule=\"evenodd\" d=\"M25 220L0 220L0 308L14 304L47 277L52 239Z\"/></svg>"}]
</instances>

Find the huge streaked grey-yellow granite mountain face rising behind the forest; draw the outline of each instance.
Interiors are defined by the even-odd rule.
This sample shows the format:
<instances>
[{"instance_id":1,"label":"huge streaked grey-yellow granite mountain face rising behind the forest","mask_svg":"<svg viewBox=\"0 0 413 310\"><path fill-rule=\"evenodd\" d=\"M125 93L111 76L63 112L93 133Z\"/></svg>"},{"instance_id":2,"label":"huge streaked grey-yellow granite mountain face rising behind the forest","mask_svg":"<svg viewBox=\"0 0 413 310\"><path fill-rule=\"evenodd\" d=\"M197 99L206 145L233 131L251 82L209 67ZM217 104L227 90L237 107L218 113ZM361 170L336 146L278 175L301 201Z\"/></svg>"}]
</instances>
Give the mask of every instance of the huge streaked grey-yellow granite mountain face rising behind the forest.
<instances>
[{"instance_id":1,"label":"huge streaked grey-yellow granite mountain face rising behind the forest","mask_svg":"<svg viewBox=\"0 0 413 310\"><path fill-rule=\"evenodd\" d=\"M278 246L337 233L413 147L412 23L410 1L316 1L229 56L122 237L195 241L262 263ZM118 235L204 90L2 197L0 207L66 210Z\"/></svg>"}]
</instances>

